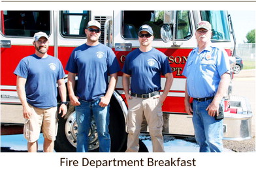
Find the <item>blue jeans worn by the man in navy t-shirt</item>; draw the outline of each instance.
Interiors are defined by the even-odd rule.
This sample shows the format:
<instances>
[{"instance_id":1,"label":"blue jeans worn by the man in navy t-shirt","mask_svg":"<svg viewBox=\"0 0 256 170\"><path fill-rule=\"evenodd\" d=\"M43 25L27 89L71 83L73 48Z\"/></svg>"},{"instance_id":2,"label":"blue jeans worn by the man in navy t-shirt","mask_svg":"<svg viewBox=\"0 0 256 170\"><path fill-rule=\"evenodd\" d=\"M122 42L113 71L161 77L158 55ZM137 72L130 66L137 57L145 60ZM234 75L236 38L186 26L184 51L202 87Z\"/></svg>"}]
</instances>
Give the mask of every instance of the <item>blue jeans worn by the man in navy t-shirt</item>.
<instances>
[{"instance_id":1,"label":"blue jeans worn by the man in navy t-shirt","mask_svg":"<svg viewBox=\"0 0 256 170\"><path fill-rule=\"evenodd\" d=\"M109 106L99 106L100 101L100 99L95 102L79 100L81 105L75 107L76 122L78 124L76 152L88 152L88 135L92 114L97 126L99 152L110 152L110 135L108 133Z\"/></svg>"}]
</instances>

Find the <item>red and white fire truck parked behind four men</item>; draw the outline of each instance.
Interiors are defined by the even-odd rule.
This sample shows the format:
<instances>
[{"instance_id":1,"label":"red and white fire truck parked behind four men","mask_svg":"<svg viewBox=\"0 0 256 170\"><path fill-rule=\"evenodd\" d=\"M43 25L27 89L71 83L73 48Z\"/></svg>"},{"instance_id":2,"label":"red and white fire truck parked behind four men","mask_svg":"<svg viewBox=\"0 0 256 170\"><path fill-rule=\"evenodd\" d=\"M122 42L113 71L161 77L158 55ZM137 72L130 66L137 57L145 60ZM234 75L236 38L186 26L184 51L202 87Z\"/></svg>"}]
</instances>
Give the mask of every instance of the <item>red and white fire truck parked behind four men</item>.
<instances>
[{"instance_id":1,"label":"red and white fire truck parked behind four men","mask_svg":"<svg viewBox=\"0 0 256 170\"><path fill-rule=\"evenodd\" d=\"M153 47L167 55L174 75L173 85L163 105L163 134L194 135L191 116L185 113L185 77L182 76L187 56L197 45L195 25L201 20L212 24L212 43L225 48L231 66L234 66L235 37L231 17L221 10L106 10L106 11L1 11L1 135L22 134L24 118L22 106L16 93L14 69L23 57L35 52L33 35L44 31L50 40L48 54L59 58L65 68L71 51L86 42L84 28L89 20L101 23L100 42L112 48L120 66L125 56L138 48L138 28L148 24L153 28ZM67 72L66 72L67 74ZM125 119L127 104L121 85L122 73L110 101L111 151L125 150L127 133ZM65 78L67 81L67 78ZM161 80L162 87L165 78ZM225 97L224 138L244 140L251 137L251 109L246 99L232 96L232 83ZM58 97L59 100L59 97ZM59 117L55 150L72 152L76 147L77 124L74 106L64 119ZM143 132L147 132L144 124ZM97 127L91 120L89 150L97 151Z\"/></svg>"}]
</instances>

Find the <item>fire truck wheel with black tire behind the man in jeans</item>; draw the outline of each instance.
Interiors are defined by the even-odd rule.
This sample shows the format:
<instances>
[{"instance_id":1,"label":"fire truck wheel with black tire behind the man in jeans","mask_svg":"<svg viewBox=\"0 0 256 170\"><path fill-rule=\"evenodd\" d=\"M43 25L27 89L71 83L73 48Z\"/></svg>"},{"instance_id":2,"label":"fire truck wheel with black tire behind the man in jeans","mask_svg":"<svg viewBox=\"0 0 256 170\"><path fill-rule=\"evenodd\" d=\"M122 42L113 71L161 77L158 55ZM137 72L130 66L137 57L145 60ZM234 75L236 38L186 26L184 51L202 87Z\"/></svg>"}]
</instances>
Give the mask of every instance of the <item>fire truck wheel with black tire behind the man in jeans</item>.
<instances>
[{"instance_id":1,"label":"fire truck wheel with black tire behind the man in jeans","mask_svg":"<svg viewBox=\"0 0 256 170\"><path fill-rule=\"evenodd\" d=\"M69 105L67 115L61 118L58 115L58 130L54 149L56 152L76 152L77 124L75 120L74 106ZM89 152L99 151L95 122L91 120L89 132ZM125 118L116 98L110 100L110 124L109 133L111 137L111 152L123 152L126 146L127 133L125 132Z\"/></svg>"}]
</instances>

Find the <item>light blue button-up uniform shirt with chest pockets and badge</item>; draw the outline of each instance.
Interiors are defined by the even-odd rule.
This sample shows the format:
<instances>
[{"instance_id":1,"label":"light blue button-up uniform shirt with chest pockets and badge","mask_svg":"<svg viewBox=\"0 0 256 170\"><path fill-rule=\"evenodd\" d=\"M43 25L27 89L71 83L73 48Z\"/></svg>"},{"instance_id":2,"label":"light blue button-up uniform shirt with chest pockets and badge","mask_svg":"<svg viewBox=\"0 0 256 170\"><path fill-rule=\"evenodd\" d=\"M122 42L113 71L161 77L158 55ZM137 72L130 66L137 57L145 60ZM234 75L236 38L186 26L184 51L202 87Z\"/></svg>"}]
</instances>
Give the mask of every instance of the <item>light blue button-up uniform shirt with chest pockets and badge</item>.
<instances>
[{"instance_id":1,"label":"light blue button-up uniform shirt with chest pockets and badge","mask_svg":"<svg viewBox=\"0 0 256 170\"><path fill-rule=\"evenodd\" d=\"M214 96L219 87L221 76L230 74L227 52L222 48L206 47L201 53L199 48L189 53L183 75L187 78L187 92L193 98Z\"/></svg>"}]
</instances>

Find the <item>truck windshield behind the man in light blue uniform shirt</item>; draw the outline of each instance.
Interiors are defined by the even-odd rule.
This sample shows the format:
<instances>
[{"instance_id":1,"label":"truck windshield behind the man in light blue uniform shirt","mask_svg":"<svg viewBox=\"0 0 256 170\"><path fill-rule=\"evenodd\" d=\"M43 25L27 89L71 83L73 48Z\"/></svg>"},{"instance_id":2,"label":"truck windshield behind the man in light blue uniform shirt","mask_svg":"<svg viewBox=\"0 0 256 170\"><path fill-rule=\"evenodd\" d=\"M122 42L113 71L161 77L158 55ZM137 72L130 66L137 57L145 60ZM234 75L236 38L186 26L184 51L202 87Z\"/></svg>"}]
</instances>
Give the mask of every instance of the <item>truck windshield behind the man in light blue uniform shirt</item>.
<instances>
[{"instance_id":1,"label":"truck windshield behind the man in light blue uniform shirt","mask_svg":"<svg viewBox=\"0 0 256 170\"><path fill-rule=\"evenodd\" d=\"M212 42L230 41L227 11L224 10L202 10L202 20L209 21L212 25Z\"/></svg>"}]
</instances>

